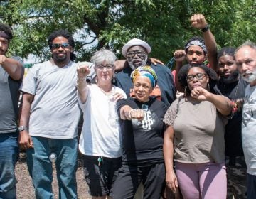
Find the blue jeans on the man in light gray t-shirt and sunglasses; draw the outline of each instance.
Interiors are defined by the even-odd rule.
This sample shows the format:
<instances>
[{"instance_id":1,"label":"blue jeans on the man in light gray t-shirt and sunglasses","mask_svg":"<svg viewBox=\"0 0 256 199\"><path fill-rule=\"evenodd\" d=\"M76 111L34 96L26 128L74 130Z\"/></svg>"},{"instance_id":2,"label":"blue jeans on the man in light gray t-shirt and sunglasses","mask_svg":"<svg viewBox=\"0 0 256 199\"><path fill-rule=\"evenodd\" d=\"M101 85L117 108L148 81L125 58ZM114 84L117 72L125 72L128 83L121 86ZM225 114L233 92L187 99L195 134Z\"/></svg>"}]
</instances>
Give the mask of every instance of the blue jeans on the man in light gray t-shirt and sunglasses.
<instances>
[{"instance_id":1,"label":"blue jeans on the man in light gray t-shirt and sunglasses","mask_svg":"<svg viewBox=\"0 0 256 199\"><path fill-rule=\"evenodd\" d=\"M27 149L28 171L36 198L53 198L53 166L49 159L55 153L60 199L78 198L75 173L78 166L78 139L49 139L32 136L33 149Z\"/></svg>"}]
</instances>

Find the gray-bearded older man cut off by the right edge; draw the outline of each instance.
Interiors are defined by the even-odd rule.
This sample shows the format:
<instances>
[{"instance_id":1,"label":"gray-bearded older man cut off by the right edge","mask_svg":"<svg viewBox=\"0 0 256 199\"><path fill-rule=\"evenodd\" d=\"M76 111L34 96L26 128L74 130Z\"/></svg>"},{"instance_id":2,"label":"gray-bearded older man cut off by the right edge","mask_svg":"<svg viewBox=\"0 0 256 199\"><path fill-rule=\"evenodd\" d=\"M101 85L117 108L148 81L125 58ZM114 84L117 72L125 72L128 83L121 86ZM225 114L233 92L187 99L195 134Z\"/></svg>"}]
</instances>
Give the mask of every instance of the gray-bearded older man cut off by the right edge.
<instances>
[{"instance_id":1,"label":"gray-bearded older man cut off by the right edge","mask_svg":"<svg viewBox=\"0 0 256 199\"><path fill-rule=\"evenodd\" d=\"M235 50L242 78L249 82L242 109L242 148L247 165L247 198L256 198L256 44L243 43Z\"/></svg>"}]
</instances>

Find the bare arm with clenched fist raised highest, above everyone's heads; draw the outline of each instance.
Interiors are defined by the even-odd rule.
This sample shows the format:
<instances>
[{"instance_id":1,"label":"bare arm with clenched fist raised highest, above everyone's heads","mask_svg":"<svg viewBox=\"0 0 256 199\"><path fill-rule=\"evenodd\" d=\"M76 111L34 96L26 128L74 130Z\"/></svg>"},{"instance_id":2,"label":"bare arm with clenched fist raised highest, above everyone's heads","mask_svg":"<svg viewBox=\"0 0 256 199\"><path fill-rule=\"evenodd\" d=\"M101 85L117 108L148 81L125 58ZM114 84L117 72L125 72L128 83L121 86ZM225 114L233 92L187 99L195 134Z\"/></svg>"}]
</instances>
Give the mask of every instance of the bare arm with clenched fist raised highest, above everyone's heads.
<instances>
[{"instance_id":1,"label":"bare arm with clenched fist raised highest, above everyone's heads","mask_svg":"<svg viewBox=\"0 0 256 199\"><path fill-rule=\"evenodd\" d=\"M207 25L206 18L203 16L203 14L194 14L191 16L191 25L194 28L203 29ZM218 72L218 65L217 65L217 43L215 41L215 38L213 36L213 33L208 29L208 31L203 32L203 39L206 44L207 49L207 59L210 63L210 68L213 68L216 72Z\"/></svg>"}]
</instances>

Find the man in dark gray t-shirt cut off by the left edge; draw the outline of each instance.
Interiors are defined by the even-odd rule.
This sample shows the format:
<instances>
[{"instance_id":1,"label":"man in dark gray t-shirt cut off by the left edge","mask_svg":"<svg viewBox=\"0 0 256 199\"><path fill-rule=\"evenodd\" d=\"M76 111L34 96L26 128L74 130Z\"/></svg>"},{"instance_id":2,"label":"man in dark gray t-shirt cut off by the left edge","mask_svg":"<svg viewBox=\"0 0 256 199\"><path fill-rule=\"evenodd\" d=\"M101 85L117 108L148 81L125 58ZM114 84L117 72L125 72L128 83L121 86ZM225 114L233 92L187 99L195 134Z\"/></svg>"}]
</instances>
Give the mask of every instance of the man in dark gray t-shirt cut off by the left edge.
<instances>
[{"instance_id":1,"label":"man in dark gray t-shirt cut off by the left edge","mask_svg":"<svg viewBox=\"0 0 256 199\"><path fill-rule=\"evenodd\" d=\"M11 38L11 28L0 23L0 198L16 198L18 87L24 68L21 60L6 56Z\"/></svg>"}]
</instances>

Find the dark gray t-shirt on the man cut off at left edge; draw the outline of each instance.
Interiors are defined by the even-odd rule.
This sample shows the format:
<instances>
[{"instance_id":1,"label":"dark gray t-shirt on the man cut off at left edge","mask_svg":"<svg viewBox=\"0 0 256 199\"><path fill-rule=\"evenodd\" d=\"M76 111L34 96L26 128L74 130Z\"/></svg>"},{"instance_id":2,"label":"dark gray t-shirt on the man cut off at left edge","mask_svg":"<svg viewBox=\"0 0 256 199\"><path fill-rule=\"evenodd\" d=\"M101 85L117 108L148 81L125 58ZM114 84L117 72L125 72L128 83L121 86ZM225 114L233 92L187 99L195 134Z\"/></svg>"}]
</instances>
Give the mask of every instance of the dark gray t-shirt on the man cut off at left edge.
<instances>
[{"instance_id":1,"label":"dark gray t-shirt on the man cut off at left edge","mask_svg":"<svg viewBox=\"0 0 256 199\"><path fill-rule=\"evenodd\" d=\"M21 61L20 58L13 58ZM18 131L18 87L20 85L21 80L11 79L0 65L0 134Z\"/></svg>"}]
</instances>

